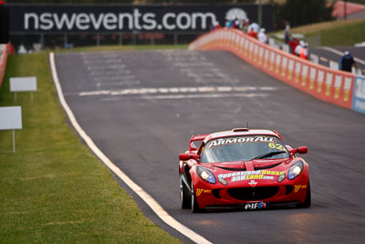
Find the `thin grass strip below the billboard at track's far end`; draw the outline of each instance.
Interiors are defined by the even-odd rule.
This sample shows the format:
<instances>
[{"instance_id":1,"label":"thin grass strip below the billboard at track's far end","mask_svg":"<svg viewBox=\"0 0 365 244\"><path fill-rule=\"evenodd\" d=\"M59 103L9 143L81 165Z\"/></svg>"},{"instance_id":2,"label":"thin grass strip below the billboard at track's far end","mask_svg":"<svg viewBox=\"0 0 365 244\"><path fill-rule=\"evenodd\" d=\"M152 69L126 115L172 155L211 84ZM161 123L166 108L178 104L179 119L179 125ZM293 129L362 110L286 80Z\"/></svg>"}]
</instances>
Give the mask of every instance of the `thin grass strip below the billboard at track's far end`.
<instances>
[{"instance_id":1,"label":"thin grass strip below the billboard at track's far end","mask_svg":"<svg viewBox=\"0 0 365 244\"><path fill-rule=\"evenodd\" d=\"M88 51L130 51L156 49L187 49L189 45L126 45L126 46L89 46L71 49L57 49L56 52L88 52Z\"/></svg>"}]
</instances>

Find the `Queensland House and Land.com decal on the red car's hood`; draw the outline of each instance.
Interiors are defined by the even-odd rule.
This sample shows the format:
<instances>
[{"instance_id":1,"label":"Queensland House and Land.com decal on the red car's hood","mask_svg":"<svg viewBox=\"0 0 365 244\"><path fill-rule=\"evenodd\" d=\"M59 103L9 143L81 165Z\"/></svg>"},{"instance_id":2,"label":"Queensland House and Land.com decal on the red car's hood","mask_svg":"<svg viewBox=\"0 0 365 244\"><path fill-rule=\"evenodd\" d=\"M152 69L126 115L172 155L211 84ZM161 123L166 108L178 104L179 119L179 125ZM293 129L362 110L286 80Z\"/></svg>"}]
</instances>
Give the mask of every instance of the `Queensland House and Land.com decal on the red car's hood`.
<instances>
[{"instance_id":1,"label":"Queensland House and Land.com decal on the red car's hood","mask_svg":"<svg viewBox=\"0 0 365 244\"><path fill-rule=\"evenodd\" d=\"M232 182L241 180L253 180L253 179L266 179L273 180L274 176L283 175L284 171L272 171L272 170L255 170L255 171L239 171L228 174L219 174L218 178L231 178Z\"/></svg>"}]
</instances>

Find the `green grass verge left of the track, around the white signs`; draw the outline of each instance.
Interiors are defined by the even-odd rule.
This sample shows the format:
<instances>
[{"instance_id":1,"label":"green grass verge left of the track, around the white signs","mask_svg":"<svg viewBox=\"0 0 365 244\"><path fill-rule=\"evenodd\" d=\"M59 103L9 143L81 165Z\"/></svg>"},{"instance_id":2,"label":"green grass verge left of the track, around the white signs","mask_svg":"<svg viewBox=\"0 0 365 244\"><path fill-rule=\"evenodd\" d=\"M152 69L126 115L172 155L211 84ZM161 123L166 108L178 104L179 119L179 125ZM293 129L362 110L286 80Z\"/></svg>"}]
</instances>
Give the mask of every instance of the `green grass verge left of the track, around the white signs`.
<instances>
[{"instance_id":1,"label":"green grass verge left of the track, around the white signs","mask_svg":"<svg viewBox=\"0 0 365 244\"><path fill-rule=\"evenodd\" d=\"M36 76L28 92L9 77ZM147 219L68 126L57 101L47 53L8 58L0 106L22 106L23 130L0 131L1 243L177 243Z\"/></svg>"}]
</instances>

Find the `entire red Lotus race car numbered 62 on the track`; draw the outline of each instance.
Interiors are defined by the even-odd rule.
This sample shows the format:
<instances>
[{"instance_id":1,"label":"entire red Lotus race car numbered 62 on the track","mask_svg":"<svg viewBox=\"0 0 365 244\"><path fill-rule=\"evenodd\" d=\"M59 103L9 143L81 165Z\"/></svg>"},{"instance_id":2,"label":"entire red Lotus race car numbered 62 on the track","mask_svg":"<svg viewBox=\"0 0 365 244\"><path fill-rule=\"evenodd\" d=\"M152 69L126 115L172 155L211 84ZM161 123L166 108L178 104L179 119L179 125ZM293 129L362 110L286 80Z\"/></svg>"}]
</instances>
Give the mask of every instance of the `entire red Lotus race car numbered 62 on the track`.
<instances>
[{"instance_id":1,"label":"entire red Lotus race car numbered 62 on the track","mask_svg":"<svg viewBox=\"0 0 365 244\"><path fill-rule=\"evenodd\" d=\"M179 154L182 207L194 213L216 207L309 207L308 164L296 156L307 152L306 146L284 145L275 131L237 128L193 135L189 151Z\"/></svg>"}]
</instances>

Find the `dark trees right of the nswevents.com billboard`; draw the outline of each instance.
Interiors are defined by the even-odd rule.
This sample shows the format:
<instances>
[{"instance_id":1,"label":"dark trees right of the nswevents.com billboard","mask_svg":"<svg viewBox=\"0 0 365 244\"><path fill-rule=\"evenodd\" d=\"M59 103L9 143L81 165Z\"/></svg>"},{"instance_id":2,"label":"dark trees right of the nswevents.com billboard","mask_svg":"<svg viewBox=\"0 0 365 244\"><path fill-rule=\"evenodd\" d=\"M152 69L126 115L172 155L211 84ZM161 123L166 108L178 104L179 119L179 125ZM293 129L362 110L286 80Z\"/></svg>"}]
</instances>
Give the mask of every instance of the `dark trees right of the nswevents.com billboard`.
<instances>
[{"instance_id":1,"label":"dark trees right of the nswevents.com billboard","mask_svg":"<svg viewBox=\"0 0 365 244\"><path fill-rule=\"evenodd\" d=\"M285 22L291 27L332 20L333 4L326 0L287 0L276 4L276 26L282 28Z\"/></svg>"}]
</instances>

